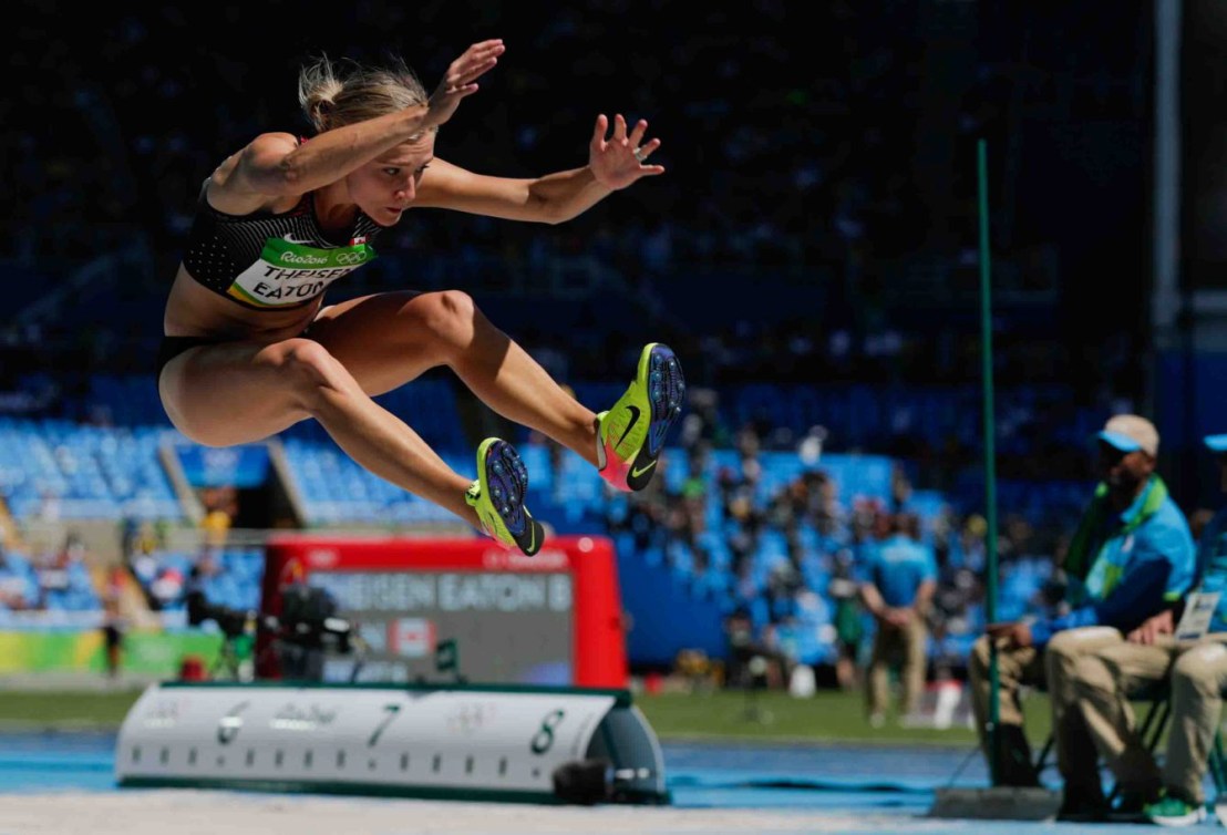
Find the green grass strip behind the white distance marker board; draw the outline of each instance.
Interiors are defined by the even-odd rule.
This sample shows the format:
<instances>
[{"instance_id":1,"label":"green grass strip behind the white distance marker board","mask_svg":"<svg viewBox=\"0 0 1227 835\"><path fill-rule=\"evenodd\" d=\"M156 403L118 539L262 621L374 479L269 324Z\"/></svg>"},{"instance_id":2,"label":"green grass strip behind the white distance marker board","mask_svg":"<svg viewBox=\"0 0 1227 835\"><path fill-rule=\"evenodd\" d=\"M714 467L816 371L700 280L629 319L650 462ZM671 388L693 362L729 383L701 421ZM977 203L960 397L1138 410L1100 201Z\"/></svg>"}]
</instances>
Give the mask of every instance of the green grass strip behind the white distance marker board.
<instances>
[{"instance_id":1,"label":"green grass strip behind the white distance marker board","mask_svg":"<svg viewBox=\"0 0 1227 835\"><path fill-rule=\"evenodd\" d=\"M140 690L0 692L0 728L117 730ZM638 695L636 704L661 739L742 742L858 742L969 747L971 730L904 728L887 722L870 727L859 693L820 690L812 699L787 693L740 692ZM1025 701L1027 733L1038 742L1048 734L1048 699Z\"/></svg>"}]
</instances>

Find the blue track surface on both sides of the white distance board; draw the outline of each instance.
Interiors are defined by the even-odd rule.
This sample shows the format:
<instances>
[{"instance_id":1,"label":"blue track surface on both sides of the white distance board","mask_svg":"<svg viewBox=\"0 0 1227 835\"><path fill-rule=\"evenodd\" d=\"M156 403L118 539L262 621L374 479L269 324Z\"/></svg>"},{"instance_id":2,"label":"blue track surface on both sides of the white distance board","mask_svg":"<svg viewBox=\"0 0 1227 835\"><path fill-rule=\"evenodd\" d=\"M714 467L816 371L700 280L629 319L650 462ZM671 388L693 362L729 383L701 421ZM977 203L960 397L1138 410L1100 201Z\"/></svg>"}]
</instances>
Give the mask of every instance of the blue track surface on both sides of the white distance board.
<instances>
[{"instance_id":1,"label":"blue track surface on both sides of the white distance board","mask_svg":"<svg viewBox=\"0 0 1227 835\"><path fill-rule=\"evenodd\" d=\"M0 792L118 791L112 774L114 734L56 732L0 734ZM1125 824L1052 824L925 818L934 790L987 785L978 757L961 748L853 745L729 745L666 743L665 771L674 806L685 808L825 809L897 817L890 828L858 833L1136 833ZM955 775L957 780L952 782ZM1193 831L1207 831L1206 823ZM1145 831L1145 830L1142 830Z\"/></svg>"}]
</instances>

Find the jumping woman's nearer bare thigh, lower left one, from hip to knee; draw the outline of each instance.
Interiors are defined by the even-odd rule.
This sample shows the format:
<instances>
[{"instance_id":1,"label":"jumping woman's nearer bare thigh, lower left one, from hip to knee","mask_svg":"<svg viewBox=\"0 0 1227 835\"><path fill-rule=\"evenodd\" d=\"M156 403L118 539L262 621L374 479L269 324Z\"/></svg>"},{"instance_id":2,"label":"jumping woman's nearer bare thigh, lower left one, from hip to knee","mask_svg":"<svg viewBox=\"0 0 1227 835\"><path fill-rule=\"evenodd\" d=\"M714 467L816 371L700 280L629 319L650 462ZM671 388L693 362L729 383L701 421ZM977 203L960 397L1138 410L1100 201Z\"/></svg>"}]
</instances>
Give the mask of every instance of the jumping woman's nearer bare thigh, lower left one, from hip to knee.
<instances>
[{"instance_id":1,"label":"jumping woman's nearer bare thigh, lower left one, from hip to knee","mask_svg":"<svg viewBox=\"0 0 1227 835\"><path fill-rule=\"evenodd\" d=\"M183 352L158 378L171 422L198 443L231 446L304 419L281 368L287 345L227 342Z\"/></svg>"}]
</instances>

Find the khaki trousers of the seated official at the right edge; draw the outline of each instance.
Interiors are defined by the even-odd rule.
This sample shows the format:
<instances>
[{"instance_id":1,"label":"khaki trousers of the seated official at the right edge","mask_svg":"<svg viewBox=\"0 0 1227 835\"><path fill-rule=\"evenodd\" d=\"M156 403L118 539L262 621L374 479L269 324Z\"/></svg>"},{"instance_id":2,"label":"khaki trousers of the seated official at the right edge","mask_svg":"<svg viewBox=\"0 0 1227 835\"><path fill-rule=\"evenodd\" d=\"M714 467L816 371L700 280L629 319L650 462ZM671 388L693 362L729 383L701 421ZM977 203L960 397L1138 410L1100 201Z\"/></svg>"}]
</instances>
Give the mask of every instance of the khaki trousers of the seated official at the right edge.
<instances>
[{"instance_id":1,"label":"khaki trousers of the seated official at the right edge","mask_svg":"<svg viewBox=\"0 0 1227 835\"><path fill-rule=\"evenodd\" d=\"M1075 671L1079 706L1094 752L1123 788L1150 792L1160 785L1190 801L1204 801L1201 788L1210 748L1227 685L1227 633L1206 635L1196 642L1177 642L1161 636L1142 646L1121 641L1086 656ZM1162 774L1136 727L1130 699L1160 694L1169 679L1172 720ZM1091 752L1080 752L1075 770L1093 769Z\"/></svg>"}]
</instances>

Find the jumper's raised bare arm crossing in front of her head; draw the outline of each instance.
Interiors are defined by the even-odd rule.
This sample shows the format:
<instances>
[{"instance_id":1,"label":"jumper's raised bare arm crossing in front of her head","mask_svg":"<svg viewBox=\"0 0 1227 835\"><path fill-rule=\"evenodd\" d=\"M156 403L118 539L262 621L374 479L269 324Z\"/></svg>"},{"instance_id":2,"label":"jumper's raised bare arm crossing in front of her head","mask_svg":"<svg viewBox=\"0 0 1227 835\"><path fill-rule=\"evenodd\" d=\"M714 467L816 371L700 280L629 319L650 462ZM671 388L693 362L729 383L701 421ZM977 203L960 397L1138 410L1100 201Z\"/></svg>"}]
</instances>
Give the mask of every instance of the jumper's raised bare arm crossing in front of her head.
<instances>
[{"instance_id":1,"label":"jumper's raised bare arm crossing in front of her head","mask_svg":"<svg viewBox=\"0 0 1227 835\"><path fill-rule=\"evenodd\" d=\"M209 201L220 211L247 215L280 197L335 183L379 154L445 123L460 99L477 92L477 78L498 63L502 40L476 43L448 67L427 104L326 130L299 143L291 134L261 134L213 173Z\"/></svg>"}]
</instances>

